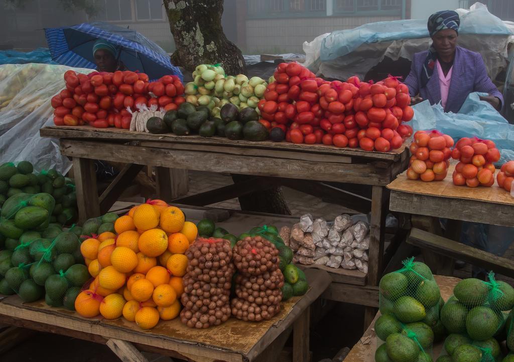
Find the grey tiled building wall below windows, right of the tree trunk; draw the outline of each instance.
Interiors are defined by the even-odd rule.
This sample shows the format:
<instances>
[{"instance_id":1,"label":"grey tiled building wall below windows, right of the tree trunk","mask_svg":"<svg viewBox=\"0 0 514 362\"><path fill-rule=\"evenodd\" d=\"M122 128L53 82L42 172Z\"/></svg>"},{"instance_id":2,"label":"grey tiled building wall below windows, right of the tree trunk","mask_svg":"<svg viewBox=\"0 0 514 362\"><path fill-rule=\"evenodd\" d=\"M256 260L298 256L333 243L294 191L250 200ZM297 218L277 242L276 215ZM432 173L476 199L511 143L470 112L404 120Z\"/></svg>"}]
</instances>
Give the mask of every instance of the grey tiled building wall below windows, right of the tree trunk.
<instances>
[{"instance_id":1,"label":"grey tiled building wall below windows, right of the tree trunk","mask_svg":"<svg viewBox=\"0 0 514 362\"><path fill-rule=\"evenodd\" d=\"M303 42L335 30L353 29L374 22L399 20L401 16L307 17L248 19L246 54L301 53Z\"/></svg>"}]
</instances>

